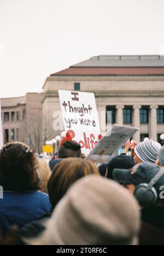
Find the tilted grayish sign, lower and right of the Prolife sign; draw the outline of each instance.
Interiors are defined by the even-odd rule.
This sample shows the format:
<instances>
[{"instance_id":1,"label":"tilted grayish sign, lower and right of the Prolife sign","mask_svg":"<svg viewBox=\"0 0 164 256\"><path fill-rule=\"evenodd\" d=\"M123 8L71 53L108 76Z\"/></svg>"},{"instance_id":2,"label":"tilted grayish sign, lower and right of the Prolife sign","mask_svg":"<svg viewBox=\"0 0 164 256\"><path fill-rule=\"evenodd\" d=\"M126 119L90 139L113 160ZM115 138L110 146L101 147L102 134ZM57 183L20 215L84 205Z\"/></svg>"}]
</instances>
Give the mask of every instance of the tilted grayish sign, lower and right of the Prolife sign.
<instances>
[{"instance_id":1,"label":"tilted grayish sign, lower and right of the Prolife sign","mask_svg":"<svg viewBox=\"0 0 164 256\"><path fill-rule=\"evenodd\" d=\"M113 125L112 134L111 131L108 131L90 152L87 159L94 162L108 162L114 155L118 154L118 150L138 130L136 127Z\"/></svg>"}]
</instances>

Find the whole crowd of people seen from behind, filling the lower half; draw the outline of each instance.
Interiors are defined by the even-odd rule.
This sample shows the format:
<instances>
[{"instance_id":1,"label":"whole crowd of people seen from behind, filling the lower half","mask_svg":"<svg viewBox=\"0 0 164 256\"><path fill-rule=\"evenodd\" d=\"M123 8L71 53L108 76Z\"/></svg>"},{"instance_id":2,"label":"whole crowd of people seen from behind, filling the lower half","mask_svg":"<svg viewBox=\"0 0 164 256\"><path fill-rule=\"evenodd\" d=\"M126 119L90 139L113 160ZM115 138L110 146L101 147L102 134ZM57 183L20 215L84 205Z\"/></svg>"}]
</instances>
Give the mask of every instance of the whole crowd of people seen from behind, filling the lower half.
<instances>
[{"instance_id":1,"label":"whole crowd of people seen from behind, filling the lower half","mask_svg":"<svg viewBox=\"0 0 164 256\"><path fill-rule=\"evenodd\" d=\"M0 245L164 245L164 147L150 139L100 165L70 137L49 163L9 142L0 185Z\"/></svg>"}]
</instances>

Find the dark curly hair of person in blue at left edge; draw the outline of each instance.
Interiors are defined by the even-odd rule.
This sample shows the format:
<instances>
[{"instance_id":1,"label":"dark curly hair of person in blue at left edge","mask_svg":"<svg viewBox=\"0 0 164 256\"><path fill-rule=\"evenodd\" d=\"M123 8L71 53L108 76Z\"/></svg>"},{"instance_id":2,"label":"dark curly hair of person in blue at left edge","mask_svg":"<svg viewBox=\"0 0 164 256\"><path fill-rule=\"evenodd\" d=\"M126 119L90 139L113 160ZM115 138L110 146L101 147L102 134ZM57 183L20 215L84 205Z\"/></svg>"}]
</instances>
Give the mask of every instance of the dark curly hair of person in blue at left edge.
<instances>
[{"instance_id":1,"label":"dark curly hair of person in blue at left edge","mask_svg":"<svg viewBox=\"0 0 164 256\"><path fill-rule=\"evenodd\" d=\"M36 191L37 158L24 143L9 142L0 152L0 185L4 191Z\"/></svg>"}]
</instances>

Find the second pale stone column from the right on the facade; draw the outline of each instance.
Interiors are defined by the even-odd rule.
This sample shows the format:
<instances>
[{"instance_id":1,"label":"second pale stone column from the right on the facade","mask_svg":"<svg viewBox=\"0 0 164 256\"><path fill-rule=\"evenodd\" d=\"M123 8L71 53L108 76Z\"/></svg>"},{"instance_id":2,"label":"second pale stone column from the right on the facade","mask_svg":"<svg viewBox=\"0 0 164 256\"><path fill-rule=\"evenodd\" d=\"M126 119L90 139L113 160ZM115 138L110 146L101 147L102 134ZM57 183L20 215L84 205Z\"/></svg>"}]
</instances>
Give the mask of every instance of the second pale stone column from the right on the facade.
<instances>
[{"instance_id":1,"label":"second pale stone column from the right on the facade","mask_svg":"<svg viewBox=\"0 0 164 256\"><path fill-rule=\"evenodd\" d=\"M141 106L135 105L133 106L133 126L140 128L140 108ZM133 138L138 143L140 142L140 130L134 133Z\"/></svg>"}]
</instances>

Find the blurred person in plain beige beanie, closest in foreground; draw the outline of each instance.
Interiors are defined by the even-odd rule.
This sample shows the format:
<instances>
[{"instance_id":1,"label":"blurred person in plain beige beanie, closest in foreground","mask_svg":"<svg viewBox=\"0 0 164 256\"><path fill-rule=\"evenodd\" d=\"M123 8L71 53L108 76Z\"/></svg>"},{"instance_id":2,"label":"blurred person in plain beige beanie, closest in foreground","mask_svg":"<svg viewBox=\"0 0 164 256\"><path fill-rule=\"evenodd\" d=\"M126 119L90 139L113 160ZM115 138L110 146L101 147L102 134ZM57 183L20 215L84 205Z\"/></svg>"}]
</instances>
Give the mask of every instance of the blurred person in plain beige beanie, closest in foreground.
<instances>
[{"instance_id":1,"label":"blurred person in plain beige beanie, closest in foreground","mask_svg":"<svg viewBox=\"0 0 164 256\"><path fill-rule=\"evenodd\" d=\"M138 245L139 205L127 189L90 175L67 191L30 245ZM27 241L26 241L27 242Z\"/></svg>"}]
</instances>

